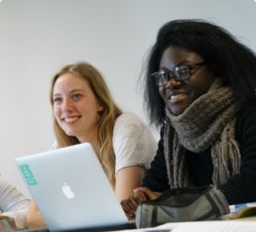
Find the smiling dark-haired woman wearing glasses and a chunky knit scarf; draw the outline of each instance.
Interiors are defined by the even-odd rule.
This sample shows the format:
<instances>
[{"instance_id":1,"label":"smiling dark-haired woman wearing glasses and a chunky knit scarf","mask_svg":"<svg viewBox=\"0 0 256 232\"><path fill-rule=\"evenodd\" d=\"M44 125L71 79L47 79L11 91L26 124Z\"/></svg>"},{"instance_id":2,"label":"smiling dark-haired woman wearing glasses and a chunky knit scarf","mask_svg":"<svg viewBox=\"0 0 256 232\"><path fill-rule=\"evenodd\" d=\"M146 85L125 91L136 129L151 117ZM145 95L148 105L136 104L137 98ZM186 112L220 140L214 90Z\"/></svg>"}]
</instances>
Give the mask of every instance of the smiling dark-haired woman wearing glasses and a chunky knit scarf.
<instances>
[{"instance_id":1,"label":"smiling dark-haired woman wearing glasses and a chunky knit scarf","mask_svg":"<svg viewBox=\"0 0 256 232\"><path fill-rule=\"evenodd\" d=\"M137 205L176 187L215 184L229 204L256 200L256 57L224 29L200 20L165 24L145 74L145 102L161 128Z\"/></svg>"}]
</instances>

